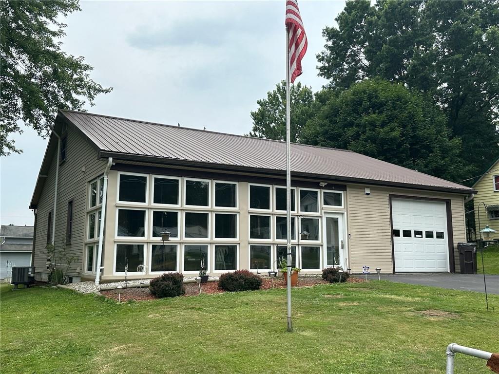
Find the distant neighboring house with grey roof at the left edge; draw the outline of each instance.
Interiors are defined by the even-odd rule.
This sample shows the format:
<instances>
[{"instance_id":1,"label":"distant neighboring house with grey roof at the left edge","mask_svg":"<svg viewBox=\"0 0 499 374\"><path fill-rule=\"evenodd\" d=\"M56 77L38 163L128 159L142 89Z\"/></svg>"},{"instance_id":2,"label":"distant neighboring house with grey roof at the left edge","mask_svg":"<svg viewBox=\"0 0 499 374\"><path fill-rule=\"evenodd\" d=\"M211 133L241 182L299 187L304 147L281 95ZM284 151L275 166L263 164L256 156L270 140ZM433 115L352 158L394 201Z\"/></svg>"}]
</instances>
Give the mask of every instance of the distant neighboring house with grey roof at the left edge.
<instances>
[{"instance_id":1,"label":"distant neighboring house with grey roof at the left edge","mask_svg":"<svg viewBox=\"0 0 499 374\"><path fill-rule=\"evenodd\" d=\"M31 266L33 226L0 226L0 280L11 276L12 266Z\"/></svg>"}]
</instances>

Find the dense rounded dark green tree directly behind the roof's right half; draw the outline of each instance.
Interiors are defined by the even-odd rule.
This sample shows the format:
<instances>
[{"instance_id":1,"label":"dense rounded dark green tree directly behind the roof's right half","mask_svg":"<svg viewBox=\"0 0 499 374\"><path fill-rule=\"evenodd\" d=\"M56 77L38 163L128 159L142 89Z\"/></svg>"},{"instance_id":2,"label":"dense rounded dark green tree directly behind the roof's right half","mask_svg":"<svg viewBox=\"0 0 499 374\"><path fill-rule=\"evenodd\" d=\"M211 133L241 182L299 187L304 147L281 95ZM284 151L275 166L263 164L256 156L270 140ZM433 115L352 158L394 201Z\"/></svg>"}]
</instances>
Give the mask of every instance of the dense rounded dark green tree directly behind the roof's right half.
<instances>
[{"instance_id":1,"label":"dense rounded dark green tree directly behind the roof's right half","mask_svg":"<svg viewBox=\"0 0 499 374\"><path fill-rule=\"evenodd\" d=\"M348 149L440 178L466 168L461 140L431 99L399 83L367 79L331 96L302 133L307 144Z\"/></svg>"}]
</instances>

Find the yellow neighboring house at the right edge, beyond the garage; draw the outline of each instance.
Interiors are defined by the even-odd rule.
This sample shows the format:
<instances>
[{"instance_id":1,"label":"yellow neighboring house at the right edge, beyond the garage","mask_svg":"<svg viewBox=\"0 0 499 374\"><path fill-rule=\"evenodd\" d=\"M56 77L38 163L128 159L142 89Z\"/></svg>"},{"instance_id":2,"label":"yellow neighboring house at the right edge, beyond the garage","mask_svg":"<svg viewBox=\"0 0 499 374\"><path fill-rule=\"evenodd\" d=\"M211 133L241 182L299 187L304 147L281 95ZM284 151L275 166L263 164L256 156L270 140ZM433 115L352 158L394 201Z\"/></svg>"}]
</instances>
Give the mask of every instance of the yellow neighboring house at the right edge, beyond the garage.
<instances>
[{"instance_id":1,"label":"yellow neighboring house at the right edge, beyond the garage","mask_svg":"<svg viewBox=\"0 0 499 374\"><path fill-rule=\"evenodd\" d=\"M477 190L473 199L477 237L480 238L480 230L489 225L497 231L490 234L491 239L499 239L499 159L480 177L473 188Z\"/></svg>"}]
</instances>

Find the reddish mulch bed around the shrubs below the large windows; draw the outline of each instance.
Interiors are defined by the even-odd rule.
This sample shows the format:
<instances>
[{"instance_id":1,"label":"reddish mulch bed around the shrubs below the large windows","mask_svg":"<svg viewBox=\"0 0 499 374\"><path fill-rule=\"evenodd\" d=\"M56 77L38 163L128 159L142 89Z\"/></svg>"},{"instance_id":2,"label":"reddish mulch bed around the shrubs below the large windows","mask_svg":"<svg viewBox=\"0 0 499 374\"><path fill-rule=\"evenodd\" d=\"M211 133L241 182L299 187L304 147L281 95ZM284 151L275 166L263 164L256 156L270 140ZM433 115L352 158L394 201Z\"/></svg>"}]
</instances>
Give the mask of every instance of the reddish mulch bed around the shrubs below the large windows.
<instances>
[{"instance_id":1,"label":"reddish mulch bed around the shrubs below the large windows","mask_svg":"<svg viewBox=\"0 0 499 374\"><path fill-rule=\"evenodd\" d=\"M349 278L347 282L351 283L362 283L365 282L362 278ZM310 287L317 284L328 284L320 277L300 277L298 278L298 285L293 288L299 287ZM285 288L283 278L274 279L274 288ZM185 285L186 293L184 296L196 296L199 295L199 286L197 283L187 283ZM262 278L261 288L262 290L268 290L272 288L272 280L270 278ZM218 282L207 282L201 284L201 292L203 294L219 294L225 292L218 287ZM144 300L156 300L157 298L151 294L147 286L142 288L121 288L109 291L102 291L102 295L109 299L121 300L121 302L127 302L129 300L144 301Z\"/></svg>"}]
</instances>

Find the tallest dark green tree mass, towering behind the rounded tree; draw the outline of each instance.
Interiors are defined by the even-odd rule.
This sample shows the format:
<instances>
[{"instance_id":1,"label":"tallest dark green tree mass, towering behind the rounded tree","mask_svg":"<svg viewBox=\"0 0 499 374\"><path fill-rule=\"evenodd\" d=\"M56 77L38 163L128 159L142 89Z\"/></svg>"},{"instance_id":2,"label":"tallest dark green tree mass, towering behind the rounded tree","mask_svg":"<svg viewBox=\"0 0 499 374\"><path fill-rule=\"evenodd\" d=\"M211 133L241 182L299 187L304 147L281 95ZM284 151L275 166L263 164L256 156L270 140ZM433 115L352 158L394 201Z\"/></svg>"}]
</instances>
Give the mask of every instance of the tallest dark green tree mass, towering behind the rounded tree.
<instances>
[{"instance_id":1,"label":"tallest dark green tree mass, towering behind the rounded tree","mask_svg":"<svg viewBox=\"0 0 499 374\"><path fill-rule=\"evenodd\" d=\"M499 155L499 0L349 1L336 20L317 56L331 87L402 82L445 111L470 174Z\"/></svg>"}]
</instances>

